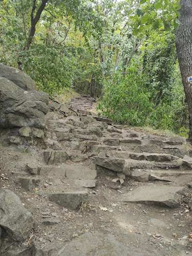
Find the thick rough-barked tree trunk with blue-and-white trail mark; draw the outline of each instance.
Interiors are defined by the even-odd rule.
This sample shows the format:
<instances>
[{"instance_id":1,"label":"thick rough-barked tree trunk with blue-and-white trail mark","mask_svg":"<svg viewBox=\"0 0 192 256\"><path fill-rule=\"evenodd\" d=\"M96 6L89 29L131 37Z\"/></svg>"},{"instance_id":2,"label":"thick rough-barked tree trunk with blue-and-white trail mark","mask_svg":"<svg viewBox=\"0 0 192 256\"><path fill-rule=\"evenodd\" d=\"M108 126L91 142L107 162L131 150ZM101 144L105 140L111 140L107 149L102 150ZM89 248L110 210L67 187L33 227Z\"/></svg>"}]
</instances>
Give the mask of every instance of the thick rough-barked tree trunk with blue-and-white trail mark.
<instances>
[{"instance_id":1,"label":"thick rough-barked tree trunk with blue-and-white trail mark","mask_svg":"<svg viewBox=\"0 0 192 256\"><path fill-rule=\"evenodd\" d=\"M181 71L182 83L188 104L189 140L192 141L192 1L180 0L180 26L176 33L176 49Z\"/></svg>"}]
</instances>

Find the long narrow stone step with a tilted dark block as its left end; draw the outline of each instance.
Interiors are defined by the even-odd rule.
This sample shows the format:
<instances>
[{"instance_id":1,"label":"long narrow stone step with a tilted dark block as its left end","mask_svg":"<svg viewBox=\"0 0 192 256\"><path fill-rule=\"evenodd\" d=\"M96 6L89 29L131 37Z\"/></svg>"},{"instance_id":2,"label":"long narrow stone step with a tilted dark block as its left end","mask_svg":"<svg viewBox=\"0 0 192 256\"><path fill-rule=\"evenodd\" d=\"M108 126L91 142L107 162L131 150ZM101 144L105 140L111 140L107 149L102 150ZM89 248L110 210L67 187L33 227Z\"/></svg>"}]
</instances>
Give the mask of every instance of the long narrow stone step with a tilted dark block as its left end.
<instances>
[{"instance_id":1,"label":"long narrow stone step with a tilted dark block as its left end","mask_svg":"<svg viewBox=\"0 0 192 256\"><path fill-rule=\"evenodd\" d=\"M130 175L134 168L153 169L153 168L180 168L181 163L176 162L149 162L138 160L124 160L122 158L95 157L94 163L102 167L114 170L114 172L122 172L125 175Z\"/></svg>"}]
</instances>

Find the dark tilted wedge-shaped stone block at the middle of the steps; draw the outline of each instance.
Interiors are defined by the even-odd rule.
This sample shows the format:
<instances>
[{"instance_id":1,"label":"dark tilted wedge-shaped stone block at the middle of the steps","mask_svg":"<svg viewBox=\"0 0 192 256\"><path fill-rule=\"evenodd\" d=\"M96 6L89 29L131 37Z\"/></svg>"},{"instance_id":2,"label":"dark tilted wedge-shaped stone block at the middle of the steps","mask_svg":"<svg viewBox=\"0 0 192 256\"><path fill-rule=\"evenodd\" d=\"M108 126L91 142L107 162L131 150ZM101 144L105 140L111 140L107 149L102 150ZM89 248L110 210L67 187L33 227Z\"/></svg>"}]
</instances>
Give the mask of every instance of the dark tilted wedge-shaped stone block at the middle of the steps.
<instances>
[{"instance_id":1,"label":"dark tilted wedge-shaped stone block at the middle of the steps","mask_svg":"<svg viewBox=\"0 0 192 256\"><path fill-rule=\"evenodd\" d=\"M122 172L124 159L120 158L108 158L108 157L96 157L94 163L115 172Z\"/></svg>"}]
</instances>

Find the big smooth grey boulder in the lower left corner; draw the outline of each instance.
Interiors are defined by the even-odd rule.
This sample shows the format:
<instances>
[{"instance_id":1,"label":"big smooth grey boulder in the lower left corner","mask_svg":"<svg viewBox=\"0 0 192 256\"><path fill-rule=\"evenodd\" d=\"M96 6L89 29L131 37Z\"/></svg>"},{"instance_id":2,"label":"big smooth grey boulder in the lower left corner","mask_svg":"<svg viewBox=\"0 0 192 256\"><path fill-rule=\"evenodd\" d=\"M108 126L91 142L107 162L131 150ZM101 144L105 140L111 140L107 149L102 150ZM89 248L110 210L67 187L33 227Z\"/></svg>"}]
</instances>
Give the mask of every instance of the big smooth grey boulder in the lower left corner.
<instances>
[{"instance_id":1,"label":"big smooth grey boulder in the lower left corner","mask_svg":"<svg viewBox=\"0 0 192 256\"><path fill-rule=\"evenodd\" d=\"M33 217L20 199L8 189L0 189L0 225L15 241L24 241L33 226Z\"/></svg>"}]
</instances>

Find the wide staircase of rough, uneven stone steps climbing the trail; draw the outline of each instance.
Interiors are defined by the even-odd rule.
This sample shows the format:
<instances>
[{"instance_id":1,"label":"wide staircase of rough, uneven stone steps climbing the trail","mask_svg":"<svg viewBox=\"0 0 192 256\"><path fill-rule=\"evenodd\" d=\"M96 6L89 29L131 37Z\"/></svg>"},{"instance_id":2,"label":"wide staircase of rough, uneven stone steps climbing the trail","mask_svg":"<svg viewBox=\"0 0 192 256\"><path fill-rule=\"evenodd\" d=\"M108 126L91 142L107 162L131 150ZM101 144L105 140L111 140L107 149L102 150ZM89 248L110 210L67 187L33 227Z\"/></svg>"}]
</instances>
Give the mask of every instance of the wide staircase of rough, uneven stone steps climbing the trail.
<instances>
[{"instance_id":1,"label":"wide staircase of rough, uneven stone steps climbing the trail","mask_svg":"<svg viewBox=\"0 0 192 256\"><path fill-rule=\"evenodd\" d=\"M45 188L42 198L47 198L44 207L54 202L63 207L62 214L65 210L77 209L90 195L98 195L95 190L98 184L109 188L107 193L111 187L117 191L113 205L143 203L179 207L179 199L192 174L192 159L185 138L123 129L91 112L94 100L80 97L63 105L62 112L67 117L58 112L61 106L53 108L52 104L46 115L45 139L38 148L40 164L29 162L25 173L15 173L21 187L34 191L40 184ZM72 108L76 113L70 111ZM101 174L113 186L108 187L107 182L99 183ZM127 184L132 181L136 185L127 189ZM41 214L49 212L49 207ZM113 209L108 211L111 212ZM49 213L45 217L55 215Z\"/></svg>"}]
</instances>

